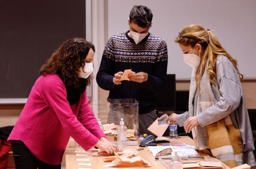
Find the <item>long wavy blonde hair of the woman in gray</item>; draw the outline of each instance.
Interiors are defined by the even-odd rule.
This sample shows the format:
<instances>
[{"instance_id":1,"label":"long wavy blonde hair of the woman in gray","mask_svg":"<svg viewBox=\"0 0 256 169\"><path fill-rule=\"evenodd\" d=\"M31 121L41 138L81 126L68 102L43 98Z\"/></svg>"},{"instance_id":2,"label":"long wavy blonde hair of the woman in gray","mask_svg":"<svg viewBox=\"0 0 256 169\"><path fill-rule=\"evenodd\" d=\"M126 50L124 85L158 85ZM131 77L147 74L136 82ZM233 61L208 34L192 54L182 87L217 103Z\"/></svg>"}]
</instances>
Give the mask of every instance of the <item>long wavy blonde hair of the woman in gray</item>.
<instances>
[{"instance_id":1,"label":"long wavy blonde hair of the woman in gray","mask_svg":"<svg viewBox=\"0 0 256 169\"><path fill-rule=\"evenodd\" d=\"M215 86L214 80L216 78L216 59L218 55L223 55L229 58L230 62L235 66L237 73L239 74L240 81L243 80L244 75L242 75L238 70L237 60L230 56L229 53L221 46L218 39L209 29L204 29L204 27L193 24L185 27L179 33L179 36L175 39L175 42L185 45L195 47L196 44L202 46L204 51L203 56L201 57L200 65L197 69L195 80L196 84L200 91L200 79L204 74L204 71L200 72L199 68L204 70L207 60L209 59L209 67L207 68L207 73L209 74L210 83Z\"/></svg>"}]
</instances>

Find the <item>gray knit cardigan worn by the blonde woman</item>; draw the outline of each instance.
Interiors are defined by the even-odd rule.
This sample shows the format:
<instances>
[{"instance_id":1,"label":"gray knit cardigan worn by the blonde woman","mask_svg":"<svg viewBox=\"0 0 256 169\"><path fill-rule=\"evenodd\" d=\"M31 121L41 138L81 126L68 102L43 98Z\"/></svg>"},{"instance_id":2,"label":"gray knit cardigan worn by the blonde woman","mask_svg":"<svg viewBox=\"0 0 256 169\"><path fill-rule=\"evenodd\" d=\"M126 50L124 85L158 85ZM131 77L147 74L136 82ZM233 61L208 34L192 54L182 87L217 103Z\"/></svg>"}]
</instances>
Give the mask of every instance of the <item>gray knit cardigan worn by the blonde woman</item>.
<instances>
[{"instance_id":1,"label":"gray knit cardigan worn by the blonde woman","mask_svg":"<svg viewBox=\"0 0 256 169\"><path fill-rule=\"evenodd\" d=\"M253 136L242 85L235 67L226 56L219 56L216 61L216 81L221 97L216 104L198 114L197 120L201 127L205 127L230 115L233 125L241 131L243 161L254 166L256 163L253 156ZM187 118L189 112L177 115L178 125L183 126Z\"/></svg>"}]
</instances>

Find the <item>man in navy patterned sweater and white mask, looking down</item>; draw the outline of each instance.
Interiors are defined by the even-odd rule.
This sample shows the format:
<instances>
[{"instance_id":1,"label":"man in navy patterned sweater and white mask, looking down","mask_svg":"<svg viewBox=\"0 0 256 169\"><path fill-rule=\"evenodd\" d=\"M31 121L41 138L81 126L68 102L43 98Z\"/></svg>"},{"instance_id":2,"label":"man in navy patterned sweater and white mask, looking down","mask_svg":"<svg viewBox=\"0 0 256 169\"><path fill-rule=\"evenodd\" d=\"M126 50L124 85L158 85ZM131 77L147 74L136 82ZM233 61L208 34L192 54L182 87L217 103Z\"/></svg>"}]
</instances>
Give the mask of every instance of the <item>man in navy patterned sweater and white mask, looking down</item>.
<instances>
[{"instance_id":1,"label":"man in navy patterned sweater and white mask, looking down","mask_svg":"<svg viewBox=\"0 0 256 169\"><path fill-rule=\"evenodd\" d=\"M146 6L134 6L128 18L129 30L114 34L104 49L97 83L109 90L109 99L135 98L139 101L139 134L147 130L157 115L155 92L166 89L167 45L164 39L149 33L152 12ZM135 74L120 78L125 69Z\"/></svg>"}]
</instances>

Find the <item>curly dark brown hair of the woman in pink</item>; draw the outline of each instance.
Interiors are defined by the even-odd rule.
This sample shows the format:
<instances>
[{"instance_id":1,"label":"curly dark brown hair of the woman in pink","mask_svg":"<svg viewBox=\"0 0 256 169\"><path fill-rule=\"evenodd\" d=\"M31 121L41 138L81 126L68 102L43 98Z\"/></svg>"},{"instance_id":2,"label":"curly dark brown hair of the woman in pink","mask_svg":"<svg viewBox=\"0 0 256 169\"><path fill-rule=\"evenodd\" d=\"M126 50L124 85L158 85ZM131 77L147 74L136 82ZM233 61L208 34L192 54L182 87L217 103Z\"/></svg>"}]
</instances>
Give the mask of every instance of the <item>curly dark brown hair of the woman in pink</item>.
<instances>
[{"instance_id":1,"label":"curly dark brown hair of the woman in pink","mask_svg":"<svg viewBox=\"0 0 256 169\"><path fill-rule=\"evenodd\" d=\"M59 73L62 75L66 86L79 86L79 69L85 66L85 57L90 48L95 52L95 47L91 42L83 38L72 38L53 52L52 56L41 67L40 75ZM87 86L91 84L91 75L86 78Z\"/></svg>"}]
</instances>

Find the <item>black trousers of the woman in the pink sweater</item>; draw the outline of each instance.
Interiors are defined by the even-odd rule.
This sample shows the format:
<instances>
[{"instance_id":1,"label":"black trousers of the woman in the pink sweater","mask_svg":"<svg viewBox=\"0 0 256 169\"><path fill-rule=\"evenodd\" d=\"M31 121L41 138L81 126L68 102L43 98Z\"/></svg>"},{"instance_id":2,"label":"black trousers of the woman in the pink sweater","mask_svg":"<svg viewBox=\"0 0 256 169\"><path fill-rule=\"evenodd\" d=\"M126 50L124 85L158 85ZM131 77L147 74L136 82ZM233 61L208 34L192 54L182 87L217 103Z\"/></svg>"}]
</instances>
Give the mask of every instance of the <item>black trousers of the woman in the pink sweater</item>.
<instances>
[{"instance_id":1,"label":"black trousers of the woman in the pink sweater","mask_svg":"<svg viewBox=\"0 0 256 169\"><path fill-rule=\"evenodd\" d=\"M61 169L61 164L51 165L39 160L21 141L15 140L11 145L15 169Z\"/></svg>"}]
</instances>

